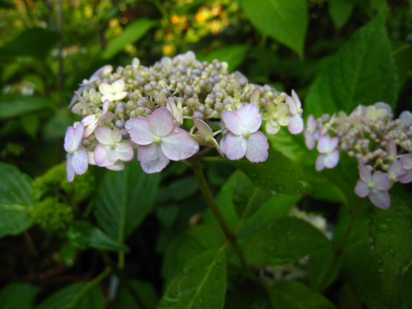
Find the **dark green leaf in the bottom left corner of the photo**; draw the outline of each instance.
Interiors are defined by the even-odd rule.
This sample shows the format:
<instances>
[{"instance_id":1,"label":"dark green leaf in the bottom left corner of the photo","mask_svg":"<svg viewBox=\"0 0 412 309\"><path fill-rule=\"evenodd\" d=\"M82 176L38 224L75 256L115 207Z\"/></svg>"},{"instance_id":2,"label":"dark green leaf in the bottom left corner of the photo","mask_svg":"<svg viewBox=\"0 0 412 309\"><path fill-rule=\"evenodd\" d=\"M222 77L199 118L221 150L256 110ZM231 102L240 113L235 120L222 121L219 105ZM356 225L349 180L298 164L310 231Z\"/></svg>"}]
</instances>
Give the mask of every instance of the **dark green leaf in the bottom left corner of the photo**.
<instances>
[{"instance_id":1,"label":"dark green leaf in the bottom left corner of the photo","mask_svg":"<svg viewBox=\"0 0 412 309\"><path fill-rule=\"evenodd\" d=\"M0 291L2 309L31 309L41 288L32 284L14 282ZM22 297L24 295L24 297Z\"/></svg>"}]
</instances>

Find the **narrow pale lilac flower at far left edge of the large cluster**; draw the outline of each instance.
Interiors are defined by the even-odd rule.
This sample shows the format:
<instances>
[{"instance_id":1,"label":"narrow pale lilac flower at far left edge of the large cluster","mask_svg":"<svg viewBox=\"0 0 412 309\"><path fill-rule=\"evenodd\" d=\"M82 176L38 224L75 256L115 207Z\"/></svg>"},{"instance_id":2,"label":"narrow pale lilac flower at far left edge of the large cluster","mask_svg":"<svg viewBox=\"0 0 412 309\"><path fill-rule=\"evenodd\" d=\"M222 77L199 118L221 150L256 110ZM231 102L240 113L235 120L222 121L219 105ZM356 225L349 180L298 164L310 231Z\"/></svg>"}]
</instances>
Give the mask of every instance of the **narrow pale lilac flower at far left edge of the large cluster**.
<instances>
[{"instance_id":1,"label":"narrow pale lilac flower at far left edge of the large cluster","mask_svg":"<svg viewBox=\"0 0 412 309\"><path fill-rule=\"evenodd\" d=\"M89 160L87 152L80 146L84 134L84 124L80 122L74 128L69 126L65 136L65 150L67 151L66 171L67 181L73 181L75 174L81 175L87 171Z\"/></svg>"}]
</instances>

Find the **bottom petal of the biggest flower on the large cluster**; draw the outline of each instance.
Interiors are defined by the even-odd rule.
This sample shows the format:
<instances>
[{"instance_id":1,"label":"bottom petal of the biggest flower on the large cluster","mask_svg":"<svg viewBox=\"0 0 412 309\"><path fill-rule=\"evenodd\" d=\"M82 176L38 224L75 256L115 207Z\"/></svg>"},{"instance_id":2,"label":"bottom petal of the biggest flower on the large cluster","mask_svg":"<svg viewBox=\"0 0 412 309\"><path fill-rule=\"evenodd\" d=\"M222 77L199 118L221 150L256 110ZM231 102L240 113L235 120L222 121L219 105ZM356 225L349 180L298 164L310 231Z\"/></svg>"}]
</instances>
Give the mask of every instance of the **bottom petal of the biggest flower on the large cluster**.
<instances>
[{"instance_id":1,"label":"bottom petal of the biggest flower on the large cluster","mask_svg":"<svg viewBox=\"0 0 412 309\"><path fill-rule=\"evenodd\" d=\"M166 165L169 164L170 159L163 155L159 144L149 144L137 148L137 160L140 161L141 168L148 174L158 173Z\"/></svg>"}]
</instances>

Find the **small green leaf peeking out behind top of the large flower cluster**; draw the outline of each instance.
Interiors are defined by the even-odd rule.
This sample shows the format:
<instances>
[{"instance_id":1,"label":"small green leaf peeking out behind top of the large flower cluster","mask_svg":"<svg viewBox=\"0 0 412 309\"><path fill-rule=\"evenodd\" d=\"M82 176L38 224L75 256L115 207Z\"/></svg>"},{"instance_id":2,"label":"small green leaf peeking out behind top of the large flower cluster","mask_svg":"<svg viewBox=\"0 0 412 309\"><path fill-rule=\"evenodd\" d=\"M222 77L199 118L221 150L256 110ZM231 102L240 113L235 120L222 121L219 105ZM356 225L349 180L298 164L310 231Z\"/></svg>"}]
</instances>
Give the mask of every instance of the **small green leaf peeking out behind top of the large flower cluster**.
<instances>
[{"instance_id":1,"label":"small green leaf peeking out behind top of the large flower cluster","mask_svg":"<svg viewBox=\"0 0 412 309\"><path fill-rule=\"evenodd\" d=\"M227 62L229 72L236 70L242 65L246 58L249 47L247 45L236 44L227 47L222 47L216 51L208 54L207 56L198 56L198 60L212 62L214 59L218 59L220 62Z\"/></svg>"}]
</instances>

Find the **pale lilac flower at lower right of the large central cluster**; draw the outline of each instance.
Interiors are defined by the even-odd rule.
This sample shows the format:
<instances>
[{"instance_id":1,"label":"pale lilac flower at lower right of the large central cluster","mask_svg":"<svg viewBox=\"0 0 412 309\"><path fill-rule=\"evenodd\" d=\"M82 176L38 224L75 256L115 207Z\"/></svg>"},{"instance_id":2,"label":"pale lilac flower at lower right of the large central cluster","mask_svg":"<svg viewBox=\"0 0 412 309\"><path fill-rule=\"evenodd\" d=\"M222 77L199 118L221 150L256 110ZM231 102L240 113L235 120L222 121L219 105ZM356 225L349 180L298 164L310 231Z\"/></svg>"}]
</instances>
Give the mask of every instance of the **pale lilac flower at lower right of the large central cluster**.
<instances>
[{"instance_id":1,"label":"pale lilac flower at lower right of the large central cluster","mask_svg":"<svg viewBox=\"0 0 412 309\"><path fill-rule=\"evenodd\" d=\"M268 159L268 138L259 131L262 115L254 104L246 104L238 111L225 111L222 120L230 131L224 144L224 152L228 159L238 160L244 156L251 162L262 162Z\"/></svg>"}]
</instances>

